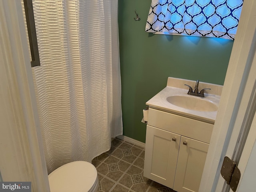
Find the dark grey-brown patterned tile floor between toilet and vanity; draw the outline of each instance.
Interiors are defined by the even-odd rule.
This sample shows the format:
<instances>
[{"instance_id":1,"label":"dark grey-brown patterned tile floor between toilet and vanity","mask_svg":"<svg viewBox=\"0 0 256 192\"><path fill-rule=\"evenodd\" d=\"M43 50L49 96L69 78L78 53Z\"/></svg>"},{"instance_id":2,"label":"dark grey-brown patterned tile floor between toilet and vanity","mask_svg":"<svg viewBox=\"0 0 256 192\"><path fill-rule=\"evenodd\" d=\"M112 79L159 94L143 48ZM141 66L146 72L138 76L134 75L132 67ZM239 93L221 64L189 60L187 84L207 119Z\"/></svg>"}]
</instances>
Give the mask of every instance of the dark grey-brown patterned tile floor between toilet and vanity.
<instances>
[{"instance_id":1,"label":"dark grey-brown patterned tile floor between toilet and vanity","mask_svg":"<svg viewBox=\"0 0 256 192\"><path fill-rule=\"evenodd\" d=\"M98 192L175 192L143 176L145 149L115 138L110 150L92 160Z\"/></svg>"}]
</instances>

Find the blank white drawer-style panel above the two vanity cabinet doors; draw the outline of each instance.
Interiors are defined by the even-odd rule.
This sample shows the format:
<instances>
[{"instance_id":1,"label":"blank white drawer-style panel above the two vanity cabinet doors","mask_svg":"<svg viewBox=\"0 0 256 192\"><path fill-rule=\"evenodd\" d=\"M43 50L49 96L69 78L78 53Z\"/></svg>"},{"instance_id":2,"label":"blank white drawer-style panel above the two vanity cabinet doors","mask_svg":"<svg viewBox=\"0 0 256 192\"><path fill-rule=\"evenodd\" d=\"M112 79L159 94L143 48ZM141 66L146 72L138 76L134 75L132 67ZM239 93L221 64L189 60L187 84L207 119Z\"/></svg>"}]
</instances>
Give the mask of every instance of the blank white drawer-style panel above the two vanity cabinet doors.
<instances>
[{"instance_id":1,"label":"blank white drawer-style panel above the two vanity cabinet doors","mask_svg":"<svg viewBox=\"0 0 256 192\"><path fill-rule=\"evenodd\" d=\"M210 143L213 125L150 108L148 125Z\"/></svg>"}]
</instances>

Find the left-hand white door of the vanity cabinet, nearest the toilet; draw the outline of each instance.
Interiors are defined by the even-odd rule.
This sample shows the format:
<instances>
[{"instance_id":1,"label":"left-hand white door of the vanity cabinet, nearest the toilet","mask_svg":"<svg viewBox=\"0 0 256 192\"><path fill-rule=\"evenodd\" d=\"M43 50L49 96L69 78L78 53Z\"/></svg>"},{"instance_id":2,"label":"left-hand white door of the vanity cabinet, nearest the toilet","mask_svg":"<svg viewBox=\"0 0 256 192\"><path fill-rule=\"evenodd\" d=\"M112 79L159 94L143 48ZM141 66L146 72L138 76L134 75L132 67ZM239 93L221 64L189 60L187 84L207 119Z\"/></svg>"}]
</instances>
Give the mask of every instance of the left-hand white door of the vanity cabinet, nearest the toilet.
<instances>
[{"instance_id":1,"label":"left-hand white door of the vanity cabinet, nearest the toilet","mask_svg":"<svg viewBox=\"0 0 256 192\"><path fill-rule=\"evenodd\" d=\"M173 188L180 135L147 126L144 176Z\"/></svg>"}]
</instances>

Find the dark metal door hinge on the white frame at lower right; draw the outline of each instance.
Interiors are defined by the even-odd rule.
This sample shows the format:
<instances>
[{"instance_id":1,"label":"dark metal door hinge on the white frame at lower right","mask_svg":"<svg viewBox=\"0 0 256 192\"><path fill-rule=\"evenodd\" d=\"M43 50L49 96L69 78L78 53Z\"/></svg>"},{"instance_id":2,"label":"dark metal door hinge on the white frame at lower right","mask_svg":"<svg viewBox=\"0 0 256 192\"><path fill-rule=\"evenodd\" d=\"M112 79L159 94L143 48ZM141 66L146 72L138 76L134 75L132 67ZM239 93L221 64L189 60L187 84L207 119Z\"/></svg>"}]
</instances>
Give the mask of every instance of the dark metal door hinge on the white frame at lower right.
<instances>
[{"instance_id":1,"label":"dark metal door hinge on the white frame at lower right","mask_svg":"<svg viewBox=\"0 0 256 192\"><path fill-rule=\"evenodd\" d=\"M225 157L220 174L226 180L227 184L229 184L232 191L236 191L241 176L240 170L236 166L236 162Z\"/></svg>"}]
</instances>

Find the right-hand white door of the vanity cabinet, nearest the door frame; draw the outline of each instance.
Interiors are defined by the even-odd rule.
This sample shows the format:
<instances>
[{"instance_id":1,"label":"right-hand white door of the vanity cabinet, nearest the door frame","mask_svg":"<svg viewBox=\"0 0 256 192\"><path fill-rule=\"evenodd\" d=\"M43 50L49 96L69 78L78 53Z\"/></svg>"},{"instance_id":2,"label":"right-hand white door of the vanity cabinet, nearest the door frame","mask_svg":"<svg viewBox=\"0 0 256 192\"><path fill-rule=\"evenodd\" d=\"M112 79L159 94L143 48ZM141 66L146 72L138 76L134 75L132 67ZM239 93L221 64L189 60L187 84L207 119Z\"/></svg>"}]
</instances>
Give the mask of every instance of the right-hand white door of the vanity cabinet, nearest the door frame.
<instances>
[{"instance_id":1,"label":"right-hand white door of the vanity cabinet, nearest the door frame","mask_svg":"<svg viewBox=\"0 0 256 192\"><path fill-rule=\"evenodd\" d=\"M198 192L208 147L208 143L181 136L174 190Z\"/></svg>"}]
</instances>

